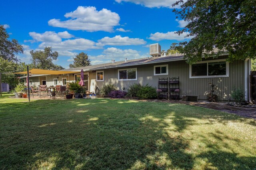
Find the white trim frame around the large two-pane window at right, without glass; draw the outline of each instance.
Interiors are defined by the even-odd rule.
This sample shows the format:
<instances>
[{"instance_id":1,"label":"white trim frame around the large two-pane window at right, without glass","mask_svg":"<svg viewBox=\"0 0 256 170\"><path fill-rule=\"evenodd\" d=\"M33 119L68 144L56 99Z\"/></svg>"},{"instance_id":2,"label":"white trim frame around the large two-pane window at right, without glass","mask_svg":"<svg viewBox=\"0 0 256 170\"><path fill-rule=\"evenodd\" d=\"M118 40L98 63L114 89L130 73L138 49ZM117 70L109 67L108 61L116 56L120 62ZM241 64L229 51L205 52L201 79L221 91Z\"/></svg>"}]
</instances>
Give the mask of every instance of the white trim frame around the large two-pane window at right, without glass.
<instances>
[{"instance_id":1,"label":"white trim frame around the large two-pane window at right, without glass","mask_svg":"<svg viewBox=\"0 0 256 170\"><path fill-rule=\"evenodd\" d=\"M192 76L192 65L189 65L189 78L214 78L214 77L229 77L229 63L226 61L226 75L208 76L208 63L215 63L220 61L226 61L226 59L198 61L195 64L207 63L207 76Z\"/></svg>"}]
</instances>

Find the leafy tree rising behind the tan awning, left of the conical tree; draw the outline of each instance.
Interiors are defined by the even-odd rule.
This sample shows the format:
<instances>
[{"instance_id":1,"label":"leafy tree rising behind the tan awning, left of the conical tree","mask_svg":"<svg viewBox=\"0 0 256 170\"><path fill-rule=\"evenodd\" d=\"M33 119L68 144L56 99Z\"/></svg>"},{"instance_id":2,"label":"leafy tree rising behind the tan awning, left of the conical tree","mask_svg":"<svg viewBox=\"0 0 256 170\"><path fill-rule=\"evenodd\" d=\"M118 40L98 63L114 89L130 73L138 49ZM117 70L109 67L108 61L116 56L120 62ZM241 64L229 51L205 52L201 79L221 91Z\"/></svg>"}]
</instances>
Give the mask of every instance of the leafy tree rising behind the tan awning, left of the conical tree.
<instances>
[{"instance_id":1,"label":"leafy tree rising behind the tan awning, left of the conical tree","mask_svg":"<svg viewBox=\"0 0 256 170\"><path fill-rule=\"evenodd\" d=\"M58 52L52 52L52 47L45 47L44 51L30 51L32 56L32 64L35 68L46 70L60 70L64 69L62 66L52 63L53 60L57 60Z\"/></svg>"}]
</instances>

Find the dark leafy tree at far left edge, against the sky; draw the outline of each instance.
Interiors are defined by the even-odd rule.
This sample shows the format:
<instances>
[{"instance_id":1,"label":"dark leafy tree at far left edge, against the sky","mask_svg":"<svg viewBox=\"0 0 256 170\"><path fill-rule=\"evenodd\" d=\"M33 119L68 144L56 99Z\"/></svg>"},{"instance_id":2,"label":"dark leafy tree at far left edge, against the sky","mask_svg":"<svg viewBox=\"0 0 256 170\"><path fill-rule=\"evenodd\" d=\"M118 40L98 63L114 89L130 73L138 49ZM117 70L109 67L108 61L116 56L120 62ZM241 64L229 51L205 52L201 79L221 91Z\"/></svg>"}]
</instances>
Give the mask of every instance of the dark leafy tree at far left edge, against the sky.
<instances>
[{"instance_id":1,"label":"dark leafy tree at far left edge, against the sky","mask_svg":"<svg viewBox=\"0 0 256 170\"><path fill-rule=\"evenodd\" d=\"M4 29L4 25L0 25L0 58L7 61L18 62L15 56L18 53L23 53L23 47L16 39L8 40L9 34Z\"/></svg>"}]
</instances>

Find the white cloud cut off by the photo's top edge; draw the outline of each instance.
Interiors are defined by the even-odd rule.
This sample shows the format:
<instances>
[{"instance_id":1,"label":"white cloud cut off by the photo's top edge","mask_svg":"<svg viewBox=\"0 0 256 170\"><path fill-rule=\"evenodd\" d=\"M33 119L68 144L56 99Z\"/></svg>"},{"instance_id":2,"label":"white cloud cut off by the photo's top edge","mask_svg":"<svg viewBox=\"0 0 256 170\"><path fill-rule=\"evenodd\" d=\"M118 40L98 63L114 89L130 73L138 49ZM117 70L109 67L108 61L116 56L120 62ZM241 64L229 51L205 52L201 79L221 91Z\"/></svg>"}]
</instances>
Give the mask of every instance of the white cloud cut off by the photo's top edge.
<instances>
[{"instance_id":1,"label":"white cloud cut off by the photo's top edge","mask_svg":"<svg viewBox=\"0 0 256 170\"><path fill-rule=\"evenodd\" d=\"M167 7L173 8L172 4L176 2L176 0L115 0L118 3L121 2L132 2L134 4L139 4L142 6L146 6L148 8L160 8L160 7Z\"/></svg>"}]
</instances>

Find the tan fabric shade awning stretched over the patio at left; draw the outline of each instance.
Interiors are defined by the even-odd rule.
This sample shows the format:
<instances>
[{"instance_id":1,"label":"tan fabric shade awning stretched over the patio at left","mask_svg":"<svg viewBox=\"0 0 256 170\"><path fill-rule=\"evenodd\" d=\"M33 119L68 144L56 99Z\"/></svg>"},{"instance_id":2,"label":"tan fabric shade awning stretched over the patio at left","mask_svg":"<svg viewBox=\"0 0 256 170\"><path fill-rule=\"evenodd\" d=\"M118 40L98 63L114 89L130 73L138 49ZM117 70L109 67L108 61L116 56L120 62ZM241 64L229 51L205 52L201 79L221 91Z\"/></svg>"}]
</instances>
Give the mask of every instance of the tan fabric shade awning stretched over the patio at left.
<instances>
[{"instance_id":1,"label":"tan fabric shade awning stretched over the patio at left","mask_svg":"<svg viewBox=\"0 0 256 170\"><path fill-rule=\"evenodd\" d=\"M37 68L32 68L29 70L30 74L74 74L74 73L80 73L77 71L59 71L59 70L42 70L42 69L37 69ZM23 72L14 72L14 74L27 74L27 71Z\"/></svg>"}]
</instances>

